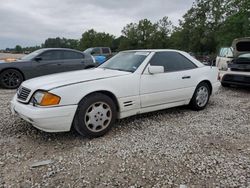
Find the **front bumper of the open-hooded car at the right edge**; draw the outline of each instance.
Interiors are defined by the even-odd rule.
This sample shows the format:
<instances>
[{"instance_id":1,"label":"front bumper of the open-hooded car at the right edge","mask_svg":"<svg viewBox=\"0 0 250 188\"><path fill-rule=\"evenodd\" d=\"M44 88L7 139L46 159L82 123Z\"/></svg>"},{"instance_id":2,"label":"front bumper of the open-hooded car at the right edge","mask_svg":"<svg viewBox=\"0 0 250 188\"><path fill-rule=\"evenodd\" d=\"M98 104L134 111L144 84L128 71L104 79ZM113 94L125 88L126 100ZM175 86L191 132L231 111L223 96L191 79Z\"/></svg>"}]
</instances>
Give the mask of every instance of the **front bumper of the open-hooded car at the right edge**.
<instances>
[{"instance_id":1,"label":"front bumper of the open-hooded car at the right edge","mask_svg":"<svg viewBox=\"0 0 250 188\"><path fill-rule=\"evenodd\" d=\"M221 79L222 84L238 85L238 86L250 86L250 73L249 72L237 72L237 71L225 71Z\"/></svg>"}]
</instances>

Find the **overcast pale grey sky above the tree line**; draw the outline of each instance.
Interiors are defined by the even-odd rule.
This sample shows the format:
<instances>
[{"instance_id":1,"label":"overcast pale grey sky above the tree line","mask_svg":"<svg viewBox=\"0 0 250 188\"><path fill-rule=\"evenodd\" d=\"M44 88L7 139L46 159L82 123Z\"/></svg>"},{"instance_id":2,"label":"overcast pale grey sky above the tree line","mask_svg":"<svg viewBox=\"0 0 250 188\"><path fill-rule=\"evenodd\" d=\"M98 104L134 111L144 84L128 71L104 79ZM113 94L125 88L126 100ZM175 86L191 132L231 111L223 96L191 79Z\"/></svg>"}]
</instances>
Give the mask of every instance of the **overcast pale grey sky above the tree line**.
<instances>
[{"instance_id":1,"label":"overcast pale grey sky above the tree line","mask_svg":"<svg viewBox=\"0 0 250 188\"><path fill-rule=\"evenodd\" d=\"M0 49L41 45L47 38L80 39L95 29L115 36L126 24L168 16L174 25L193 0L0 0Z\"/></svg>"}]
</instances>

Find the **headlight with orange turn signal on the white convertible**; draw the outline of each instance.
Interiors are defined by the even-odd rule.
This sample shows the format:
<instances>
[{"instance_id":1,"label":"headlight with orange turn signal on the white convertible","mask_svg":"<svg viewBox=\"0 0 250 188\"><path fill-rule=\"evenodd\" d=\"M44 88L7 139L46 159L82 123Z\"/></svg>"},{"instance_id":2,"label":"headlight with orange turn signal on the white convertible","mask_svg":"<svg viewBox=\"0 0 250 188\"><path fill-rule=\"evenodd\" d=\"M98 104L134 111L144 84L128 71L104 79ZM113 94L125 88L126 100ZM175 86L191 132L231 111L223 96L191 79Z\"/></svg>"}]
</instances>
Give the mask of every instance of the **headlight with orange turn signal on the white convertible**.
<instances>
[{"instance_id":1,"label":"headlight with orange turn signal on the white convertible","mask_svg":"<svg viewBox=\"0 0 250 188\"><path fill-rule=\"evenodd\" d=\"M33 96L34 104L40 106L52 106L59 104L61 97L46 91L37 91Z\"/></svg>"}]
</instances>

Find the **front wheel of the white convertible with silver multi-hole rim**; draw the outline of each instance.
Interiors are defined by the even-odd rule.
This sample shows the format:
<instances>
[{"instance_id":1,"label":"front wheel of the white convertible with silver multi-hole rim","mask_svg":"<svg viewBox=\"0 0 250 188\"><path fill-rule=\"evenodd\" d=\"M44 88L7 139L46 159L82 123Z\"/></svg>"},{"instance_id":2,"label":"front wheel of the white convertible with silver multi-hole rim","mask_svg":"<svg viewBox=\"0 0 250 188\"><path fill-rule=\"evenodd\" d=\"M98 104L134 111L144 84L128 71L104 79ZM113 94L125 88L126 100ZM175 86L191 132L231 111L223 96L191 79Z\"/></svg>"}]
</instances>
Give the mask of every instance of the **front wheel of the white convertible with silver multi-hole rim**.
<instances>
[{"instance_id":1,"label":"front wheel of the white convertible with silver multi-hole rim","mask_svg":"<svg viewBox=\"0 0 250 188\"><path fill-rule=\"evenodd\" d=\"M82 136L96 138L114 125L117 109L113 100L101 93L85 97L78 105L73 126Z\"/></svg>"}]
</instances>

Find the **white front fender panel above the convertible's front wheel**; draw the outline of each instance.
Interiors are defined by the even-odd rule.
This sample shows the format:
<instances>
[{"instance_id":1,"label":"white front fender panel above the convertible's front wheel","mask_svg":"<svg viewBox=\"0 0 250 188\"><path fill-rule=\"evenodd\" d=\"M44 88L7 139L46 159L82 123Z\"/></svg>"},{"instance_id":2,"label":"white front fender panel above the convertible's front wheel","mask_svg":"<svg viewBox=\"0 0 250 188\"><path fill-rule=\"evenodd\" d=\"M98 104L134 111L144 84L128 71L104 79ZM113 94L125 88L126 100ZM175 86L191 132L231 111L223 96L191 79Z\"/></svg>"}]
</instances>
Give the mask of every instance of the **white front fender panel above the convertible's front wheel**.
<instances>
[{"instance_id":1,"label":"white front fender panel above the convertible's front wheel","mask_svg":"<svg viewBox=\"0 0 250 188\"><path fill-rule=\"evenodd\" d=\"M61 97L60 105L78 104L85 96L98 91L112 93L119 102L121 98L139 96L139 84L140 75L133 74L67 85L50 92Z\"/></svg>"}]
</instances>

